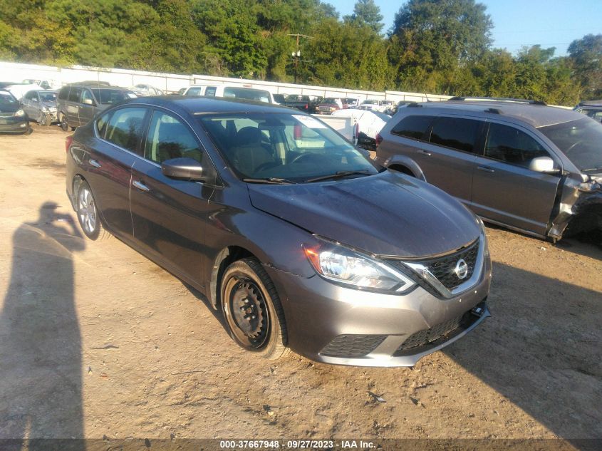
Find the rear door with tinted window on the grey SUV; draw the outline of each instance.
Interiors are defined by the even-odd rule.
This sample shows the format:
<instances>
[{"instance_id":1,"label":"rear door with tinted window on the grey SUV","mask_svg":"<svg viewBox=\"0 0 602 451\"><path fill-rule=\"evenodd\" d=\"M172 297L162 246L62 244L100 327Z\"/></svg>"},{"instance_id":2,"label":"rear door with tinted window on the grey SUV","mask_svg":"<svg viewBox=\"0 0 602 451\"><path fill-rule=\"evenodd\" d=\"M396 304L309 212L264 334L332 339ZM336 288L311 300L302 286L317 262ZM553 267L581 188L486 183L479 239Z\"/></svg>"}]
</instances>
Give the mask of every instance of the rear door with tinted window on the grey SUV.
<instances>
[{"instance_id":1,"label":"rear door with tinted window on the grey SUV","mask_svg":"<svg viewBox=\"0 0 602 451\"><path fill-rule=\"evenodd\" d=\"M427 182L467 205L472 203L472 175L484 126L483 120L440 116L427 132L427 142L410 155Z\"/></svg>"}]
</instances>

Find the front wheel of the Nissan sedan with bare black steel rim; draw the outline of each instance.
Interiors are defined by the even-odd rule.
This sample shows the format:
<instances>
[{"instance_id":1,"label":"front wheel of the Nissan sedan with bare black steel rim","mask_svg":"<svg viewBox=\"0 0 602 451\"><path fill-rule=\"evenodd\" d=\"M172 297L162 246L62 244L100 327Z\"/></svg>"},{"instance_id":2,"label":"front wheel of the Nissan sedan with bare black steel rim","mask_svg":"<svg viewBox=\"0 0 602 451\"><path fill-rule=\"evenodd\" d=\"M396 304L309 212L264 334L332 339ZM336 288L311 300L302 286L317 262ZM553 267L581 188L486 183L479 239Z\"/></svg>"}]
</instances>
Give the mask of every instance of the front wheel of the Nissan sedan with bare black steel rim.
<instances>
[{"instance_id":1,"label":"front wheel of the Nissan sedan with bare black steel rim","mask_svg":"<svg viewBox=\"0 0 602 451\"><path fill-rule=\"evenodd\" d=\"M230 336L239 346L269 360L288 353L280 298L259 261L242 259L228 266L220 295Z\"/></svg>"}]
</instances>

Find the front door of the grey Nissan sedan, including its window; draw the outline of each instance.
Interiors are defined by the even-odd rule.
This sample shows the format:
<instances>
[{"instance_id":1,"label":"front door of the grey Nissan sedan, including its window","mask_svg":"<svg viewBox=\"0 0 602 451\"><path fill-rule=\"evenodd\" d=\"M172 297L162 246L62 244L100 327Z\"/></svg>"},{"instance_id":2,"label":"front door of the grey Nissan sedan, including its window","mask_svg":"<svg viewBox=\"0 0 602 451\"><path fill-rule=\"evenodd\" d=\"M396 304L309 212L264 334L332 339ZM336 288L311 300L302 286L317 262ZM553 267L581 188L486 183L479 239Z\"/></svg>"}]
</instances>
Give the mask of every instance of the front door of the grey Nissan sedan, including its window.
<instances>
[{"instance_id":1,"label":"front door of the grey Nissan sedan, including its window","mask_svg":"<svg viewBox=\"0 0 602 451\"><path fill-rule=\"evenodd\" d=\"M136 244L171 271L198 281L204 259L204 229L215 188L163 175L161 163L190 157L211 172L211 162L190 126L180 116L154 110L144 159L136 160L131 209Z\"/></svg>"}]
</instances>

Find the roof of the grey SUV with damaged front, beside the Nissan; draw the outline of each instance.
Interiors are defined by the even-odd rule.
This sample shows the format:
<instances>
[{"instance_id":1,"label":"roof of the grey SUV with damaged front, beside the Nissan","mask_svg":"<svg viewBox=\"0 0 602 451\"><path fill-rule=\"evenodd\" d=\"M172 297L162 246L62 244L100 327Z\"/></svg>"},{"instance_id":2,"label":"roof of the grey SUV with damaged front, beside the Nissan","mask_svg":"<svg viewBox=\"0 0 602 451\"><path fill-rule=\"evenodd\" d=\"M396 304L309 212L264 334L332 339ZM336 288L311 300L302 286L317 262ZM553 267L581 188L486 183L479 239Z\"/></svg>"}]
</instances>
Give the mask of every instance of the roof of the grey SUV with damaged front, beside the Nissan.
<instances>
[{"instance_id":1,"label":"roof of the grey SUV with damaged front, beside the Nissan","mask_svg":"<svg viewBox=\"0 0 602 451\"><path fill-rule=\"evenodd\" d=\"M505 100L444 100L442 102L413 103L410 108L414 105L427 110L437 108L460 113L479 113L478 116L481 118L512 118L519 122L528 123L535 128L571 122L571 120L578 120L583 117L580 113L565 108ZM410 110L405 111L409 112Z\"/></svg>"}]
</instances>

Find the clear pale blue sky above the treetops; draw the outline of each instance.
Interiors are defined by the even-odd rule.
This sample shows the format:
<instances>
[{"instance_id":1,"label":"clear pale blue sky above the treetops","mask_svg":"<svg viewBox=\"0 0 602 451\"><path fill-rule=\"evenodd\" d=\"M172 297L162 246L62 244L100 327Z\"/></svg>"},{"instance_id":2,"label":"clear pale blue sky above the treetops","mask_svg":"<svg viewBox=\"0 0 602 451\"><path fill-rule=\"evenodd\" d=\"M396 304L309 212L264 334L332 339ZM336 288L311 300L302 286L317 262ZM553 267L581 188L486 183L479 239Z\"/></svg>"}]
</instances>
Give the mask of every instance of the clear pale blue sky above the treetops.
<instances>
[{"instance_id":1,"label":"clear pale blue sky above the treetops","mask_svg":"<svg viewBox=\"0 0 602 451\"><path fill-rule=\"evenodd\" d=\"M353 13L354 0L323 0L341 17ZM516 54L521 46L541 44L556 47L555 56L566 55L575 39L602 33L601 0L477 0L487 6L493 22L492 40L496 48ZM383 31L393 25L403 0L375 0L385 16Z\"/></svg>"}]
</instances>

